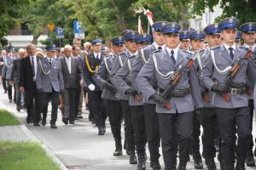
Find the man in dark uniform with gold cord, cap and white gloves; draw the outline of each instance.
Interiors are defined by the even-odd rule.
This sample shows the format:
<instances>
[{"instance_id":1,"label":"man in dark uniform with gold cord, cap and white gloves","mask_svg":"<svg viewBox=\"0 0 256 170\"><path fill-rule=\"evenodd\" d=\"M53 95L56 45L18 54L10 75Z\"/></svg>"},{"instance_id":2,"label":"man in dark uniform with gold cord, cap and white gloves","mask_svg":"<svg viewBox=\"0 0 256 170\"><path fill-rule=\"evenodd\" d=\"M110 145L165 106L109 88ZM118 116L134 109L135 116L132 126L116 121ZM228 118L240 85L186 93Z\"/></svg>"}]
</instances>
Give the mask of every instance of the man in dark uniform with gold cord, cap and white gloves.
<instances>
[{"instance_id":1,"label":"man in dark uniform with gold cord, cap and white gloves","mask_svg":"<svg viewBox=\"0 0 256 170\"><path fill-rule=\"evenodd\" d=\"M105 121L107 118L106 110L103 110L104 101L102 100L102 90L93 80L93 76L102 63L102 40L95 39L92 41L92 45L93 52L85 56L84 80L88 85L89 105L94 114L96 126L99 128L98 134L103 135L105 133Z\"/></svg>"}]
</instances>

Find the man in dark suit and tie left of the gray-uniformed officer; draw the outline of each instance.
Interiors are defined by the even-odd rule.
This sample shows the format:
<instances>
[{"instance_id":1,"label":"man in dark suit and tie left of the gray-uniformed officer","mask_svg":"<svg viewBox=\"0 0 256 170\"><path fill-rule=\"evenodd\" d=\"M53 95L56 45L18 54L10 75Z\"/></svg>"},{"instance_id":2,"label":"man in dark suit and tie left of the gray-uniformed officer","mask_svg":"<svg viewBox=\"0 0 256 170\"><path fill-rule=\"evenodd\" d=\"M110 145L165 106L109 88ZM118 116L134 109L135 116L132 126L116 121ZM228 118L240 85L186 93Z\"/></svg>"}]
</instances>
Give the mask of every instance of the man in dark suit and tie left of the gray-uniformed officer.
<instances>
[{"instance_id":1,"label":"man in dark suit and tie left of the gray-uniformed officer","mask_svg":"<svg viewBox=\"0 0 256 170\"><path fill-rule=\"evenodd\" d=\"M40 95L36 85L36 75L38 68L38 57L36 56L36 46L29 44L26 46L28 56L20 60L20 93L25 92L26 100L26 122L34 122L34 126L39 126L40 117ZM35 106L33 105L35 99Z\"/></svg>"}]
</instances>

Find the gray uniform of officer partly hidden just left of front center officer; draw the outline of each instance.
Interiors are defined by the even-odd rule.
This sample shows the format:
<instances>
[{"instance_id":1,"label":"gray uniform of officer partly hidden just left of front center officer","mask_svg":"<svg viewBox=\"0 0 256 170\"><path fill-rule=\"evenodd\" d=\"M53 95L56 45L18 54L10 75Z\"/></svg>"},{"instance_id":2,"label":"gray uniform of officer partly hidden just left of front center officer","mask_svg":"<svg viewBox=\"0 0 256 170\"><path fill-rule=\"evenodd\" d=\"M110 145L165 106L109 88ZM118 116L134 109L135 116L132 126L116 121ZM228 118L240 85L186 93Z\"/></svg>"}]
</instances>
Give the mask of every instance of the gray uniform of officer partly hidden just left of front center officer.
<instances>
[{"instance_id":1,"label":"gray uniform of officer partly hidden just left of front center officer","mask_svg":"<svg viewBox=\"0 0 256 170\"><path fill-rule=\"evenodd\" d=\"M139 91L136 77L143 68L143 65L147 62L149 56L156 50L154 43L142 48L137 54L131 66L131 71L129 74L129 79L131 79L131 84L134 88ZM156 89L155 80L151 81L151 85ZM153 99L146 99L143 96L143 107L144 107L144 117L145 126L148 141L148 150L150 153L150 161L157 162L160 157L159 147L160 147L160 130L159 130L159 120L158 114L155 113L155 102ZM152 126L154 125L154 126Z\"/></svg>"}]
</instances>

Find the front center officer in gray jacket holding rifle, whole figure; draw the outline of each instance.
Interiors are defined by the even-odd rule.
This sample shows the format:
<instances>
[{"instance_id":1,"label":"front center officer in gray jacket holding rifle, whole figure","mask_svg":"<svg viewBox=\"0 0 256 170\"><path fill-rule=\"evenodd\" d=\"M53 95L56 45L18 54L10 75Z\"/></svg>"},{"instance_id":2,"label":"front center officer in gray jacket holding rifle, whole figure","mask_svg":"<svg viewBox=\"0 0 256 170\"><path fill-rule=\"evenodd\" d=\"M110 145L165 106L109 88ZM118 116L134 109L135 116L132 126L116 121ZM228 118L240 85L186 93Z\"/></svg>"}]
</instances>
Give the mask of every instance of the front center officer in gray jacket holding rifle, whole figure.
<instances>
[{"instance_id":1,"label":"front center officer in gray jacket holding rifle, whole figure","mask_svg":"<svg viewBox=\"0 0 256 170\"><path fill-rule=\"evenodd\" d=\"M166 47L155 51L137 76L137 84L146 99L154 99L159 116L162 152L166 170L174 170L177 166L177 143L180 146L179 166L186 169L190 137L193 127L193 111L202 107L199 79L195 67L187 67L192 54L178 48L180 26L168 23L162 26ZM192 61L193 63L193 61ZM183 71L182 71L183 70ZM172 75L181 77L175 86ZM156 80L159 90L155 90L150 81ZM172 80L172 81L170 81ZM171 88L171 90L166 88ZM163 92L165 96L163 96ZM192 98L193 96L193 98ZM165 99L165 98L166 99Z\"/></svg>"}]
</instances>

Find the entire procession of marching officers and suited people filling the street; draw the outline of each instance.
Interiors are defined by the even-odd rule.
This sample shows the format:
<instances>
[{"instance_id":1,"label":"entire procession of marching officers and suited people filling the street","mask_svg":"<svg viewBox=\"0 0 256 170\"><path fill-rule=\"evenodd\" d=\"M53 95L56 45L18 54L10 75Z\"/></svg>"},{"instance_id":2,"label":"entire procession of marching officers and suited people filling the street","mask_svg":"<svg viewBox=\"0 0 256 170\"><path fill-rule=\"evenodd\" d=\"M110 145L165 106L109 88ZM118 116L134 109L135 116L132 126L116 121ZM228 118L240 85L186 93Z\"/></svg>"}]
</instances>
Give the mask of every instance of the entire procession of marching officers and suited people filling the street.
<instances>
[{"instance_id":1,"label":"entire procession of marching officers and suited people filling the street","mask_svg":"<svg viewBox=\"0 0 256 170\"><path fill-rule=\"evenodd\" d=\"M256 23L230 17L203 31L158 21L152 34L122 31L110 49L99 38L84 50L79 39L64 48L29 44L18 53L2 50L3 89L34 126L47 123L49 101L51 128L57 128L58 108L62 122L74 124L83 118L84 99L98 135L108 117L113 156L123 154L124 120L124 148L138 170L146 169L146 144L150 167L161 169L160 141L166 170L185 170L189 155L195 169L203 169L203 157L207 169L216 170L217 152L220 169L244 170L255 167L255 41Z\"/></svg>"}]
</instances>

